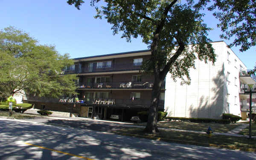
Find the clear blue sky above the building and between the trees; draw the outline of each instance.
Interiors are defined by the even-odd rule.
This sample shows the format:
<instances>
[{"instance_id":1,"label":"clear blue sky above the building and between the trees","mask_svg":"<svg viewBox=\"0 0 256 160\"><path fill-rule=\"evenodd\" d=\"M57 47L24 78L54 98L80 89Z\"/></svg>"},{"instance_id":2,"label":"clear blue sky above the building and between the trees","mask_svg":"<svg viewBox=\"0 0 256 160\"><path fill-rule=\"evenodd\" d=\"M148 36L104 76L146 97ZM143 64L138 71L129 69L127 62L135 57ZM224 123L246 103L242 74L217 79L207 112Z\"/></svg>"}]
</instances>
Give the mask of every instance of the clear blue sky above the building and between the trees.
<instances>
[{"instance_id":1,"label":"clear blue sky above the building and between the trees","mask_svg":"<svg viewBox=\"0 0 256 160\"><path fill-rule=\"evenodd\" d=\"M40 44L55 45L59 53L69 53L71 58L111 54L147 49L141 38L127 43L121 34L113 36L111 25L105 19L94 19L95 9L85 0L81 10L69 6L66 0L0 0L0 29L15 26L28 32ZM218 21L205 12L204 23L214 28L209 32L212 41L221 41ZM227 44L230 41L224 40ZM239 52L232 50L248 69L255 66L256 47Z\"/></svg>"}]
</instances>

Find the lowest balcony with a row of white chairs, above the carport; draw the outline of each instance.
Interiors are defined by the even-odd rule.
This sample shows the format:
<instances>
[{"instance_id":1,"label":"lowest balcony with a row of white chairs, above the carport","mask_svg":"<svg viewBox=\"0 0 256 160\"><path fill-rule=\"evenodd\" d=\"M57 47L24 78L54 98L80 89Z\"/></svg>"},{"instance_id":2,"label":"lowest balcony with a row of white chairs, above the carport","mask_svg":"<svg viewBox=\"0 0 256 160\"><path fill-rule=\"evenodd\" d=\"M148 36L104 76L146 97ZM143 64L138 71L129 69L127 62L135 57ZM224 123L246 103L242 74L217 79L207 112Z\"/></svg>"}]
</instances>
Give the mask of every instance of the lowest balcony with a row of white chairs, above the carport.
<instances>
[{"instance_id":1,"label":"lowest balcony with a row of white chairs, above the carport","mask_svg":"<svg viewBox=\"0 0 256 160\"><path fill-rule=\"evenodd\" d=\"M80 100L80 99L79 99ZM81 102L81 100L80 100ZM113 107L138 107L138 108L149 108L151 104L150 99L90 99L85 98L81 105L102 105L102 106L113 106ZM164 108L164 100L160 100L160 108Z\"/></svg>"}]
</instances>

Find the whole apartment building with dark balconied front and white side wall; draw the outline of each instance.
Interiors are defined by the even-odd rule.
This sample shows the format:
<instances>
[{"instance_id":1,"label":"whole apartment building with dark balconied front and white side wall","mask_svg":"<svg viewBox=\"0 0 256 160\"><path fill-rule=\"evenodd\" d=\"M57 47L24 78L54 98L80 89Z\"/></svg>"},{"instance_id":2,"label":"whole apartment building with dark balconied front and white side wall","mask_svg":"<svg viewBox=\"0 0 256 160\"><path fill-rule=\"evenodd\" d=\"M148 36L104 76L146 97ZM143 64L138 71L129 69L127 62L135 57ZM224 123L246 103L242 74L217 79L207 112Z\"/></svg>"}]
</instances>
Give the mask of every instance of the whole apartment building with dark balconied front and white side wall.
<instances>
[{"instance_id":1,"label":"whole apartment building with dark balconied front and white side wall","mask_svg":"<svg viewBox=\"0 0 256 160\"><path fill-rule=\"evenodd\" d=\"M248 111L244 90L256 84L254 75L224 41L212 42L218 56L214 65L197 60L190 69L191 84L180 85L166 76L160 93L159 111L168 116L221 118L222 113L242 116ZM73 99L38 99L28 97L35 108L77 113L78 116L129 121L139 111L148 111L154 75L140 72L150 50L74 58L75 64L64 74L77 74L80 103L73 108Z\"/></svg>"}]
</instances>

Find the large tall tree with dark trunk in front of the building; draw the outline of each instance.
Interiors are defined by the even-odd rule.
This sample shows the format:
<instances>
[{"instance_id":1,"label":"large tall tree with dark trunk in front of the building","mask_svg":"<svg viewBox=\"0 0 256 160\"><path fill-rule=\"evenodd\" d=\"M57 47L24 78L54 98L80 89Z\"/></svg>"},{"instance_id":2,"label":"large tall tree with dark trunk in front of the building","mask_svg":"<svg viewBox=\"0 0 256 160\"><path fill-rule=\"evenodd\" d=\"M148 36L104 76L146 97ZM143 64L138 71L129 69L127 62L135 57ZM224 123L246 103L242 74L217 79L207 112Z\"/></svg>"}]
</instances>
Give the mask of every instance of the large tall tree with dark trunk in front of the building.
<instances>
[{"instance_id":1,"label":"large tall tree with dark trunk in front of the building","mask_svg":"<svg viewBox=\"0 0 256 160\"><path fill-rule=\"evenodd\" d=\"M91 0L96 6L99 0ZM105 6L96 6L96 18L103 16L112 24L113 35L122 32L122 38L142 37L151 50L149 61L143 62L142 70L154 72L154 87L146 132L157 129L157 110L160 87L168 72L172 79L182 79L189 84L189 68L195 68L195 60L215 62L215 53L203 23L201 6L194 7L192 0L105 0ZM68 0L80 9L83 0ZM189 44L192 44L189 46Z\"/></svg>"}]
</instances>

